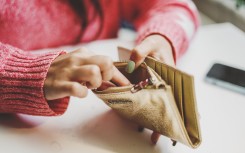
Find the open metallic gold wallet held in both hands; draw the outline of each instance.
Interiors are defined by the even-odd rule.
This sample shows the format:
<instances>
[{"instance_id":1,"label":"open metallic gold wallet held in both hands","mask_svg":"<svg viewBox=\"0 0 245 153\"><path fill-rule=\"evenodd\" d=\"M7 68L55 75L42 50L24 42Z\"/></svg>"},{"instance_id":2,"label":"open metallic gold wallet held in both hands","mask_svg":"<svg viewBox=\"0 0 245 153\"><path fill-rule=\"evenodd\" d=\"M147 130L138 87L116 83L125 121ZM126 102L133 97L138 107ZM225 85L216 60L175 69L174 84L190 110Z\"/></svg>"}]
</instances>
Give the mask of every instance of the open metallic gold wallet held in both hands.
<instances>
[{"instance_id":1,"label":"open metallic gold wallet held in both hands","mask_svg":"<svg viewBox=\"0 0 245 153\"><path fill-rule=\"evenodd\" d=\"M191 148L201 143L194 78L151 57L127 73L127 62L114 65L132 83L93 90L121 116Z\"/></svg>"}]
</instances>

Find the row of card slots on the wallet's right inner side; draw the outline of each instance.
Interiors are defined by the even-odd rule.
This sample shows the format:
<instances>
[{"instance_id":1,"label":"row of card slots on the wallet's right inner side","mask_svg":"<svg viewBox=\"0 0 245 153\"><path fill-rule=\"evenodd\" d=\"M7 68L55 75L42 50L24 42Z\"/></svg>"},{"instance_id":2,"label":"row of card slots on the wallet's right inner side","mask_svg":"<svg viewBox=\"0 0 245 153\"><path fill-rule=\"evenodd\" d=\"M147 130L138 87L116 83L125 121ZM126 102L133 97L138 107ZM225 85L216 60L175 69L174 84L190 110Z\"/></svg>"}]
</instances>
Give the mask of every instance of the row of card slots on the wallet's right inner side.
<instances>
[{"instance_id":1,"label":"row of card slots on the wallet's right inner side","mask_svg":"<svg viewBox=\"0 0 245 153\"><path fill-rule=\"evenodd\" d=\"M182 117L186 133L188 133L188 141L194 148L199 146L201 133L195 99L194 78L151 57L147 57L145 62L172 87L179 114Z\"/></svg>"}]
</instances>

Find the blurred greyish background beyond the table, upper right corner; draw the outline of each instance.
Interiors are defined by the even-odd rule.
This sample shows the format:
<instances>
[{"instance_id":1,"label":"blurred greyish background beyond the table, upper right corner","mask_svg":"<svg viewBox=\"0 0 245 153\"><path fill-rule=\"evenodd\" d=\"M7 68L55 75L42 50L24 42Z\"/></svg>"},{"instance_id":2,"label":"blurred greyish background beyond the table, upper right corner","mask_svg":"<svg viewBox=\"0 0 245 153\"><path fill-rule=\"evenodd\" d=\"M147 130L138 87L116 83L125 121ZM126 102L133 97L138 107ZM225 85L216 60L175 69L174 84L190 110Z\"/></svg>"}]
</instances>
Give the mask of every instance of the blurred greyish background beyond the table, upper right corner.
<instances>
[{"instance_id":1,"label":"blurred greyish background beyond the table, upper right corner","mask_svg":"<svg viewBox=\"0 0 245 153\"><path fill-rule=\"evenodd\" d=\"M245 31L245 0L193 0L202 24L231 22Z\"/></svg>"}]
</instances>

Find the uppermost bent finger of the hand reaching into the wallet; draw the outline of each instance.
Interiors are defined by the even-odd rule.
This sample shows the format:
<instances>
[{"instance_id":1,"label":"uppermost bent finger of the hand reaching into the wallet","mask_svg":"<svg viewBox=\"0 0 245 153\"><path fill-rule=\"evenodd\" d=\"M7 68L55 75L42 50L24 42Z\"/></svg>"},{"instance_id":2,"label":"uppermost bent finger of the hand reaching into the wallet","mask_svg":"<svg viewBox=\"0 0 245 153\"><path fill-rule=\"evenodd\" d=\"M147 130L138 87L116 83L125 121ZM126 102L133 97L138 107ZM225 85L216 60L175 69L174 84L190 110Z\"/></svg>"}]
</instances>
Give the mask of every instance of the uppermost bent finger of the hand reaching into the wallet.
<instances>
[{"instance_id":1,"label":"uppermost bent finger of the hand reaching into the wallet","mask_svg":"<svg viewBox=\"0 0 245 153\"><path fill-rule=\"evenodd\" d=\"M113 62L112 59L107 56L103 56L103 55L91 56L85 59L82 64L84 65L94 64L99 66L102 74L102 79L104 81L111 80L113 76Z\"/></svg>"}]
</instances>

